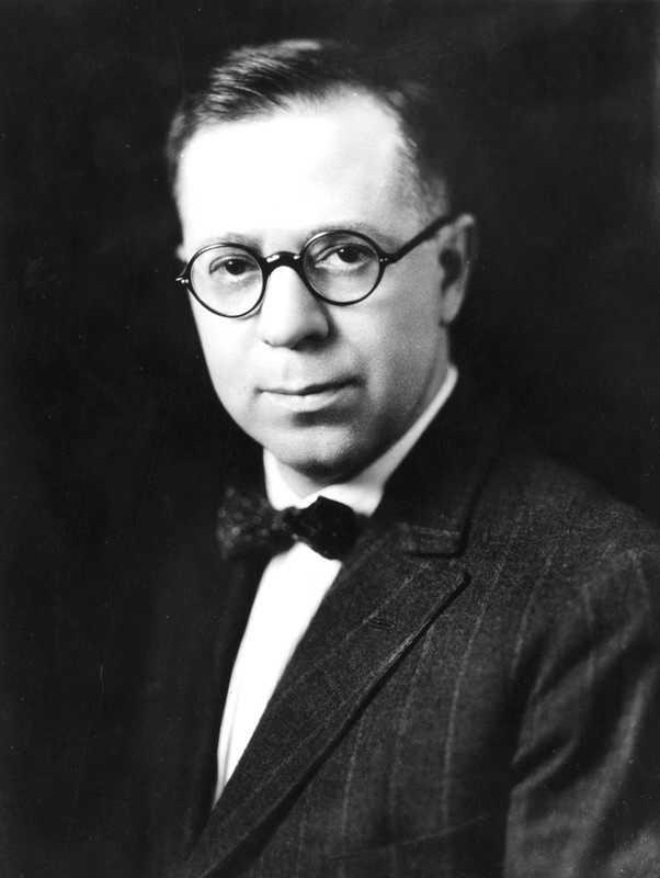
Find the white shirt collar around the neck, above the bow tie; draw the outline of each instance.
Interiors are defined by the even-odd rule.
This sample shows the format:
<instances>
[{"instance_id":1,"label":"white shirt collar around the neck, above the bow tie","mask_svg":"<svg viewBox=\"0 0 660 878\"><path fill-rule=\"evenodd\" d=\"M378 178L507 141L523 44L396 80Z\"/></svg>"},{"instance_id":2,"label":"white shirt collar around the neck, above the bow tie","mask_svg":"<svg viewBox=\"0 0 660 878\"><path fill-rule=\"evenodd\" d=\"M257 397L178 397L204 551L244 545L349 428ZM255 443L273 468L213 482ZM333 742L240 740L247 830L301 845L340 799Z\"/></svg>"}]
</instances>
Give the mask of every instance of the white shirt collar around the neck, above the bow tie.
<instances>
[{"instance_id":1,"label":"white shirt collar around the neck, above the bow tie","mask_svg":"<svg viewBox=\"0 0 660 878\"><path fill-rule=\"evenodd\" d=\"M345 503L346 506L350 506L357 515L371 516L383 498L387 480L447 402L452 391L456 386L457 379L458 371L456 367L450 364L442 386L431 403L394 446L388 448L377 460L350 481L340 482L335 485L327 485L320 491L308 494L306 497L299 497L292 491L282 476L277 460L270 451L264 449L263 465L269 500L275 509L284 509L287 506L303 508L309 506L322 494L323 497L328 497L329 499Z\"/></svg>"}]
</instances>

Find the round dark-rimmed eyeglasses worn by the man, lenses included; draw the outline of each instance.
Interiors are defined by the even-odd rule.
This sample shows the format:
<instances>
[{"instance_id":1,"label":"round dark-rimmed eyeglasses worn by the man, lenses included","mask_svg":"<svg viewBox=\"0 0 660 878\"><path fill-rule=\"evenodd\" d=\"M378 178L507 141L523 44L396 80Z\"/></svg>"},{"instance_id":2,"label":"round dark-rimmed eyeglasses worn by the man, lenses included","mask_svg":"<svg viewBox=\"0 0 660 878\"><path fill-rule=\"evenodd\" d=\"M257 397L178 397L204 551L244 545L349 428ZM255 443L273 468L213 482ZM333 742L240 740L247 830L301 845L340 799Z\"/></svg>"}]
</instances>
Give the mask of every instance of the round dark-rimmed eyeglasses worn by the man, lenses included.
<instances>
[{"instance_id":1,"label":"round dark-rimmed eyeglasses worn by the man, lenses included","mask_svg":"<svg viewBox=\"0 0 660 878\"><path fill-rule=\"evenodd\" d=\"M261 256L241 244L210 244L197 250L177 281L220 317L244 317L255 311L270 275L281 266L292 268L317 299L332 305L355 305L374 292L388 266L453 218L439 216L394 254L360 232L321 232L298 254L281 250Z\"/></svg>"}]
</instances>

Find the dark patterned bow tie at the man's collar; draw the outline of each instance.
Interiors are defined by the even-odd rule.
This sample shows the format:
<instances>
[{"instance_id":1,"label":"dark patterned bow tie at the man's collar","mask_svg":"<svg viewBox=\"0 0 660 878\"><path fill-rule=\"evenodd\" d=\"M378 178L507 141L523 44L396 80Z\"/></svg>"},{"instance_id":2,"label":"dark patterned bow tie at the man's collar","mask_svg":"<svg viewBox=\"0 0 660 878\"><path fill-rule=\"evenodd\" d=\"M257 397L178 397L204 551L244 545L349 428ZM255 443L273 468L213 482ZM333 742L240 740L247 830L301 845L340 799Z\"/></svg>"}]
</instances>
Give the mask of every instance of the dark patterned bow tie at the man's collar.
<instances>
[{"instance_id":1,"label":"dark patterned bow tie at the man's collar","mask_svg":"<svg viewBox=\"0 0 660 878\"><path fill-rule=\"evenodd\" d=\"M225 491L218 509L217 537L223 559L269 549L273 554L300 540L323 558L340 559L352 547L360 528L353 509L319 497L311 506L273 509L265 497Z\"/></svg>"}]
</instances>

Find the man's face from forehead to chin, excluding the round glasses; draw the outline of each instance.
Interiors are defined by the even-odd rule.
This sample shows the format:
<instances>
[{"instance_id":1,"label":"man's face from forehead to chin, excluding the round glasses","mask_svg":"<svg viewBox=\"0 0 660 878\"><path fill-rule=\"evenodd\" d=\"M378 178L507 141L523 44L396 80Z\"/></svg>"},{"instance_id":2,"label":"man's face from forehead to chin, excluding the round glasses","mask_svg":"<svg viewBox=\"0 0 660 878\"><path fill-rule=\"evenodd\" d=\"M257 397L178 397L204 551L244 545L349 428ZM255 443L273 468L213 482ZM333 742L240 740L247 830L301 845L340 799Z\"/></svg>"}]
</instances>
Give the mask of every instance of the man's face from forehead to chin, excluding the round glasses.
<instances>
[{"instance_id":1,"label":"man's face from forehead to chin, excluding the round glasses","mask_svg":"<svg viewBox=\"0 0 660 878\"><path fill-rule=\"evenodd\" d=\"M338 228L394 251L429 222L401 148L396 121L367 94L202 130L181 158L182 258L227 239L264 256L298 252ZM367 465L439 390L443 324L465 282L445 275L440 254L462 249L466 221L388 267L375 292L348 307L315 299L287 267L246 317L217 316L191 297L218 397L300 494Z\"/></svg>"}]
</instances>

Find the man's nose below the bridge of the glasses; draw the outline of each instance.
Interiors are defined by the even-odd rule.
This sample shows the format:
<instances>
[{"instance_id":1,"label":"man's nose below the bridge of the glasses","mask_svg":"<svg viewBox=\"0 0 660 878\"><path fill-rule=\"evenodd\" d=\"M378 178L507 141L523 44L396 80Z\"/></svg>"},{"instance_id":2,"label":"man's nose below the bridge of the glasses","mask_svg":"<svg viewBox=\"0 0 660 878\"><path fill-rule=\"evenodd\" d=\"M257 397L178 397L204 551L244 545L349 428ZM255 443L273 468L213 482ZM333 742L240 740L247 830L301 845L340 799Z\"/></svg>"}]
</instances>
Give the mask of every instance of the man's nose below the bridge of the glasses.
<instances>
[{"instance_id":1,"label":"man's nose below the bridge of the glasses","mask_svg":"<svg viewBox=\"0 0 660 878\"><path fill-rule=\"evenodd\" d=\"M271 272L258 319L261 339L271 347L297 348L325 339L330 329L323 303L288 266Z\"/></svg>"}]
</instances>

